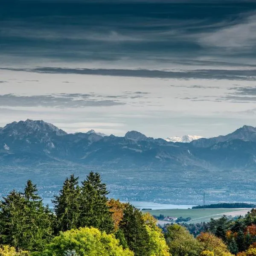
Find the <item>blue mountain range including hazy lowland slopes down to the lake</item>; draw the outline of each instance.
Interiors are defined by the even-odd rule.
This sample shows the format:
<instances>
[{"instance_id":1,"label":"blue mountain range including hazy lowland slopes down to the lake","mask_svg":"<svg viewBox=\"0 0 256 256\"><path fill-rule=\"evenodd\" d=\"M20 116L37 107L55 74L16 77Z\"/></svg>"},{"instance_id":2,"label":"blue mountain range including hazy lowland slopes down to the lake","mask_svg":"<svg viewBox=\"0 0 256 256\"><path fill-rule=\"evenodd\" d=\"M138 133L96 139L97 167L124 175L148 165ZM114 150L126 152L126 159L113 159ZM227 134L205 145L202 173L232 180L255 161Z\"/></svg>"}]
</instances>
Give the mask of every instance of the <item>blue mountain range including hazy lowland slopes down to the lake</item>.
<instances>
[{"instance_id":1,"label":"blue mountain range including hazy lowland slopes down to the lake","mask_svg":"<svg viewBox=\"0 0 256 256\"><path fill-rule=\"evenodd\" d=\"M231 134L190 143L154 139L138 131L128 131L124 137L95 131L67 134L42 120L12 122L0 128L3 181L12 177L19 182L33 173L44 187L65 176L67 169L82 175L84 169L97 170L117 196L133 200L146 201L154 195L158 201L192 203L198 200L193 193L202 189L211 191L212 202L223 201L225 193L229 198L243 198L239 189L256 196L256 128L244 125ZM180 194L179 189L183 189Z\"/></svg>"}]
</instances>

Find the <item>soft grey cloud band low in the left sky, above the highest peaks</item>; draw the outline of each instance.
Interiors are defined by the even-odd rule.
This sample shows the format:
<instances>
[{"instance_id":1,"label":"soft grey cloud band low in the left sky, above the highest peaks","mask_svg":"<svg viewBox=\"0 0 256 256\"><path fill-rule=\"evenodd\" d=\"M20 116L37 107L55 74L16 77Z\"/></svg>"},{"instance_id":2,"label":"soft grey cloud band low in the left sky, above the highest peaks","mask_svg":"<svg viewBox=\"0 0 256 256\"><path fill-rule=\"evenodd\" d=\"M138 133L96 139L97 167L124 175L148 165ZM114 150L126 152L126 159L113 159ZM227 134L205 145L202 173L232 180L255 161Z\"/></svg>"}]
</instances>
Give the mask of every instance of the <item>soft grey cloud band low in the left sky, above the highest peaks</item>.
<instances>
[{"instance_id":1,"label":"soft grey cloud band low in the left sky, above the highest peaks","mask_svg":"<svg viewBox=\"0 0 256 256\"><path fill-rule=\"evenodd\" d=\"M57 94L17 96L13 94L0 95L0 106L2 107L53 107L53 108L85 108L85 107L110 107L125 105L124 102L91 99L87 94Z\"/></svg>"}]
</instances>

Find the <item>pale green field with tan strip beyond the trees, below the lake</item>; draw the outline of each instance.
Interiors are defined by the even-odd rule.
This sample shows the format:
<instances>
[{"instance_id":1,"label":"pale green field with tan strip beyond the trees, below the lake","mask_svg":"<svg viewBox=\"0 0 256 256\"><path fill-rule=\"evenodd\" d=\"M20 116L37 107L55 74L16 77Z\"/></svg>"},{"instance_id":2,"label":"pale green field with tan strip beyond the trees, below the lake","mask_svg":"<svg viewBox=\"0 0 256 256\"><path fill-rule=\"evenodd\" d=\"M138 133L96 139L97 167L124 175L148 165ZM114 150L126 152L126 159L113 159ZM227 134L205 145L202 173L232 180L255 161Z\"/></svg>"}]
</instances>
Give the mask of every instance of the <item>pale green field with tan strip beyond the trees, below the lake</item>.
<instances>
[{"instance_id":1,"label":"pale green field with tan strip beyond the trees, below the lake","mask_svg":"<svg viewBox=\"0 0 256 256\"><path fill-rule=\"evenodd\" d=\"M218 208L218 209L163 209L163 210L151 210L151 211L145 211L150 212L151 215L160 215L163 214L165 217L180 217L183 218L192 218L191 221L188 221L186 223L201 223L203 221L208 222L211 218L220 218L223 213L227 212L236 212L241 211L241 209L224 209L224 208ZM249 211L249 210L248 210ZM239 213L240 214L240 213ZM239 215L238 214L238 215ZM228 215L228 214L227 214Z\"/></svg>"}]
</instances>

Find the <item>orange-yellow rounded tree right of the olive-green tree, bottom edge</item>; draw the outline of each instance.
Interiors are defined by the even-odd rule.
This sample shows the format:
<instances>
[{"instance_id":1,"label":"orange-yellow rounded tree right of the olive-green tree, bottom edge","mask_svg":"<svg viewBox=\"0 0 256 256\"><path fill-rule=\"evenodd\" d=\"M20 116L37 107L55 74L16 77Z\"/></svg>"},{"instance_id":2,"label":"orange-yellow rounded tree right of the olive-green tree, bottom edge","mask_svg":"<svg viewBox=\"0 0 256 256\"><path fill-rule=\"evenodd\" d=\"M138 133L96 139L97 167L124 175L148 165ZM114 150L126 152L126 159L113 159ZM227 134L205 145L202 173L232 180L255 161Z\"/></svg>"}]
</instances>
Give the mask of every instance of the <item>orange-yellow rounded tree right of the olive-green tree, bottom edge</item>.
<instances>
[{"instance_id":1,"label":"orange-yellow rounded tree right of the olive-green tree, bottom edge","mask_svg":"<svg viewBox=\"0 0 256 256\"><path fill-rule=\"evenodd\" d=\"M211 233L201 233L197 240L201 242L204 250L209 250L214 253L214 256L232 256L232 254L227 249L227 245L224 242L214 236Z\"/></svg>"}]
</instances>

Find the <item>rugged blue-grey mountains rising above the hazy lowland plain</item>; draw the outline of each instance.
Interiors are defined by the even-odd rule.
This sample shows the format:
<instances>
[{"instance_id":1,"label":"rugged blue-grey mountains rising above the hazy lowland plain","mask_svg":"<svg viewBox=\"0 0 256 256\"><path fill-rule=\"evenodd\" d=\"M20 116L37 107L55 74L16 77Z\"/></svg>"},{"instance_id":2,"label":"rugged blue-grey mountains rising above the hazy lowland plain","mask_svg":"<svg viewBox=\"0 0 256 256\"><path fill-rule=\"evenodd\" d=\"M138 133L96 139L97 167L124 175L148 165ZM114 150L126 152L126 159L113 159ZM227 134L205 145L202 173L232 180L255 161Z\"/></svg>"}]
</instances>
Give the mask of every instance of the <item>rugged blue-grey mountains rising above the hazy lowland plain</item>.
<instances>
[{"instance_id":1,"label":"rugged blue-grey mountains rising above the hazy lowland plain","mask_svg":"<svg viewBox=\"0 0 256 256\"><path fill-rule=\"evenodd\" d=\"M256 128L172 143L128 131L125 137L92 131L67 134L44 121L13 122L0 129L0 164L74 162L111 167L247 169L256 166Z\"/></svg>"}]
</instances>

